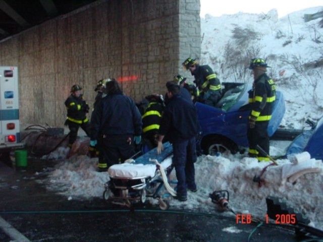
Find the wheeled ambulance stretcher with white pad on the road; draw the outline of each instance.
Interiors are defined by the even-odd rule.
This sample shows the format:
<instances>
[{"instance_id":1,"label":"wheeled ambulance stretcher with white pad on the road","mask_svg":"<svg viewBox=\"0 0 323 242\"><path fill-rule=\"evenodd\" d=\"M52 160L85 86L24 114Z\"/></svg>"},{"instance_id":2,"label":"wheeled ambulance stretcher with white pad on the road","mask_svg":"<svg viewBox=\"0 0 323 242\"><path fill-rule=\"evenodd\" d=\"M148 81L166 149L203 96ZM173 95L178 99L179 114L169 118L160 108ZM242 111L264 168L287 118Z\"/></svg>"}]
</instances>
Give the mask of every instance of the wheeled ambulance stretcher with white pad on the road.
<instances>
[{"instance_id":1,"label":"wheeled ambulance stretcher with white pad on the road","mask_svg":"<svg viewBox=\"0 0 323 242\"><path fill-rule=\"evenodd\" d=\"M158 200L160 209L168 209L168 201L162 198L176 196L169 180L174 168L172 156L173 147L167 142L159 155L154 148L136 159L112 165L108 169L110 180L104 184L103 199L131 207L133 203L143 204L151 197ZM162 189L168 193L160 195Z\"/></svg>"}]
</instances>

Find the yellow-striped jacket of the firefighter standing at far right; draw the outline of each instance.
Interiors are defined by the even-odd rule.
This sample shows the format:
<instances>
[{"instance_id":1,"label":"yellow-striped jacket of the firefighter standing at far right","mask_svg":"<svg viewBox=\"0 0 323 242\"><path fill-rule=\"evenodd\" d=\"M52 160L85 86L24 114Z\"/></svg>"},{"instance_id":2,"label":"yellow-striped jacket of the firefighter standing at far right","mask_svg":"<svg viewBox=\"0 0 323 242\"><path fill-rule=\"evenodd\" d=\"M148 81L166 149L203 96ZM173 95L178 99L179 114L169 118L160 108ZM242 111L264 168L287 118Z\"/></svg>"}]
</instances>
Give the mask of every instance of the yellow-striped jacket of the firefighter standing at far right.
<instances>
[{"instance_id":1,"label":"yellow-striped jacket of the firefighter standing at far right","mask_svg":"<svg viewBox=\"0 0 323 242\"><path fill-rule=\"evenodd\" d=\"M249 91L249 103L252 108L250 116L256 121L270 120L275 99L275 83L264 73L254 81L254 88Z\"/></svg>"}]
</instances>

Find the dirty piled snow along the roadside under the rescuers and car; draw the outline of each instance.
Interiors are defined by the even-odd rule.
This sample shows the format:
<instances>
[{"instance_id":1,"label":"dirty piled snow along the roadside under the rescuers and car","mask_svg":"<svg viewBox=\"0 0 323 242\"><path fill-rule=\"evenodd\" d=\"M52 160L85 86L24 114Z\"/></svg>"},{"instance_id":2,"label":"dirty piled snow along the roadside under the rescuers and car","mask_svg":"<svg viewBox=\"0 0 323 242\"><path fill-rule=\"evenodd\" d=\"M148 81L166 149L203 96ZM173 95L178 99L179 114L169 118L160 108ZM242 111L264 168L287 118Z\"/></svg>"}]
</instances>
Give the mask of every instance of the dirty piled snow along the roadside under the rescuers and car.
<instances>
[{"instance_id":1,"label":"dirty piled snow along the roadside under the rescuers and car","mask_svg":"<svg viewBox=\"0 0 323 242\"><path fill-rule=\"evenodd\" d=\"M86 138L83 138L86 139ZM82 140L82 139L81 139ZM285 154L289 142L273 141L272 155ZM104 183L109 175L97 172L97 158L86 155L74 155L66 159L68 148L60 147L57 151L43 158L58 159L58 164L50 168L50 176L45 181L47 189L66 196L67 200L102 198ZM288 159L277 160L278 166L269 166L261 176L262 187L253 181L269 163L258 163L255 158L243 157L241 154L217 156L200 156L195 163L197 193L188 193L186 202L168 198L172 209L189 209L204 212L216 212L221 208L212 203L209 194L218 190L227 190L230 195L230 206L236 213L251 214L253 218L265 219L268 196L278 197L286 202L295 212L306 215L311 225L323 229L323 203L321 172L307 173L291 183L283 178L284 165L291 165ZM316 161L315 167L322 169L322 162ZM46 170L48 172L48 170ZM175 172L171 174L175 178ZM166 193L166 190L164 191ZM164 193L163 192L163 193ZM156 200L149 200L157 206ZM226 212L228 216L234 216Z\"/></svg>"}]
</instances>

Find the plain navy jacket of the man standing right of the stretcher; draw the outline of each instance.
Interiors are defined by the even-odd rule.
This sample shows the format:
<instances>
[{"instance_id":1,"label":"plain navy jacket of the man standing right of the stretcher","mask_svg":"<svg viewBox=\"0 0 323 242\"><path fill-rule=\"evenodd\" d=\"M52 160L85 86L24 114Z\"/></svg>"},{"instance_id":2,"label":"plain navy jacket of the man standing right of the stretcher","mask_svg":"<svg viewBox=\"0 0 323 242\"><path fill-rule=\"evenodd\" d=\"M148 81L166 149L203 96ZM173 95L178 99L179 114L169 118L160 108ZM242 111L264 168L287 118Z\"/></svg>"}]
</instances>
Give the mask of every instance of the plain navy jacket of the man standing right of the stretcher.
<instances>
[{"instance_id":1,"label":"plain navy jacket of the man standing right of the stretcher","mask_svg":"<svg viewBox=\"0 0 323 242\"><path fill-rule=\"evenodd\" d=\"M193 138L199 131L197 110L195 105L186 101L181 95L170 98L165 108L161 124L160 135L167 135L171 143Z\"/></svg>"}]
</instances>

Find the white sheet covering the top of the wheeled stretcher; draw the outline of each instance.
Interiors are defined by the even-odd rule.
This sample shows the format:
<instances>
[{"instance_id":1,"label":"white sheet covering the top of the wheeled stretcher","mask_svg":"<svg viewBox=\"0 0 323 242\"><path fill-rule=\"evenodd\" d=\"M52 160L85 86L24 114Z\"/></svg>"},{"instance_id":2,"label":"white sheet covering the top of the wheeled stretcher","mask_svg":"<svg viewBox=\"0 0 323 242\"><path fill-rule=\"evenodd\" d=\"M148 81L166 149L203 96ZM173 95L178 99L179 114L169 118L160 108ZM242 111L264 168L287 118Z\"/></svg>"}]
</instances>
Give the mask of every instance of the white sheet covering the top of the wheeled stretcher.
<instances>
[{"instance_id":1,"label":"white sheet covering the top of the wheeled stretcher","mask_svg":"<svg viewBox=\"0 0 323 242\"><path fill-rule=\"evenodd\" d=\"M172 164L172 157L168 157L160 162L163 169L166 169ZM136 163L122 163L110 166L107 171L111 177L123 177L128 179L134 179L139 177L153 177L155 175L157 166L151 162L151 164L143 165Z\"/></svg>"}]
</instances>

